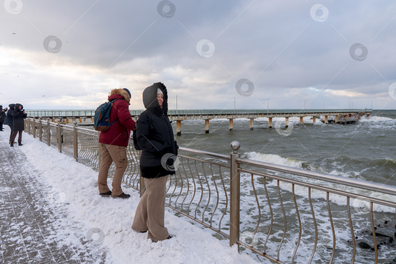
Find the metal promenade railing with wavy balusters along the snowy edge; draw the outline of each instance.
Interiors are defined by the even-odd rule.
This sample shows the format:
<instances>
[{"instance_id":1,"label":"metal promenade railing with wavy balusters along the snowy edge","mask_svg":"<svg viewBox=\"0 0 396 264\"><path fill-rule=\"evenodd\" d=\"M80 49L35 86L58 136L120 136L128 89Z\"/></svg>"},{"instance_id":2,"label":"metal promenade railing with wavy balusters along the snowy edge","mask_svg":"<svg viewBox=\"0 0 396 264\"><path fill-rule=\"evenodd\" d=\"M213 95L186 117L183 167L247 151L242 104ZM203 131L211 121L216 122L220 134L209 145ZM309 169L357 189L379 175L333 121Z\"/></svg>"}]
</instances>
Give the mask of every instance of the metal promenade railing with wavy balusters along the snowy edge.
<instances>
[{"instance_id":1,"label":"metal promenade railing with wavy balusters along the snowy edge","mask_svg":"<svg viewBox=\"0 0 396 264\"><path fill-rule=\"evenodd\" d=\"M93 129L28 118L25 132L99 168ZM378 206L395 212L395 186L250 160L238 154L237 141L231 147L230 155L180 147L166 198L176 215L273 263L384 263L396 257L381 249L393 238L375 235L383 220ZM142 194L132 141L128 155L123 182ZM362 238L372 250L358 246Z\"/></svg>"}]
</instances>

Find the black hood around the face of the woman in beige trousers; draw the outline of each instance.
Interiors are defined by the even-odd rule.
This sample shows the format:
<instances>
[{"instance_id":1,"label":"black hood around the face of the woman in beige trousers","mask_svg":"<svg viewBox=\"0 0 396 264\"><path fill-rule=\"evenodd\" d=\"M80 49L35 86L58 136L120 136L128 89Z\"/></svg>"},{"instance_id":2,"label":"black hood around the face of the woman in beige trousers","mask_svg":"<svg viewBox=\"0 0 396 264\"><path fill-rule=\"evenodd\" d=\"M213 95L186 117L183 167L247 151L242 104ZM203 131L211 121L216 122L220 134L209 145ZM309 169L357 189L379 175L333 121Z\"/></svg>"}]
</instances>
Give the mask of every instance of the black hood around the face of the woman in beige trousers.
<instances>
[{"instance_id":1,"label":"black hood around the face of the woman in beige trousers","mask_svg":"<svg viewBox=\"0 0 396 264\"><path fill-rule=\"evenodd\" d=\"M162 109L158 104L157 100L157 89L161 89L164 95L164 102L162 103ZM155 83L152 86L144 89L143 91L143 104L148 110L151 110L157 116L162 116L163 114L168 114L168 91L163 83Z\"/></svg>"}]
</instances>

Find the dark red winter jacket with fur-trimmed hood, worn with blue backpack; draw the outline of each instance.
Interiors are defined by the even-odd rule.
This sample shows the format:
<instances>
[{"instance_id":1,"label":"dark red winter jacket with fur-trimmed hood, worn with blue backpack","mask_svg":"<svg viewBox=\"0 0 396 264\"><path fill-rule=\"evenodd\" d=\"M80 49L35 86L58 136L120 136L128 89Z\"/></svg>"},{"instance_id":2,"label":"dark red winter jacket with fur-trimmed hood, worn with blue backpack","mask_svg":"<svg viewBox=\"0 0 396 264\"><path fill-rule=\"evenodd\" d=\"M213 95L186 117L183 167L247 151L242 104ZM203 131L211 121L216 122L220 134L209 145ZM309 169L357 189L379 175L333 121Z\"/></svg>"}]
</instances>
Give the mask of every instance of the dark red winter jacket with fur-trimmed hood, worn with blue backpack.
<instances>
[{"instance_id":1,"label":"dark red winter jacket with fur-trimmed hood, worn with blue backpack","mask_svg":"<svg viewBox=\"0 0 396 264\"><path fill-rule=\"evenodd\" d=\"M110 92L109 101L117 100L113 103L110 111L110 124L118 119L117 122L105 131L100 132L99 142L115 146L128 146L131 130L135 127L135 121L129 112L129 102L131 98L124 89L113 89Z\"/></svg>"}]
</instances>

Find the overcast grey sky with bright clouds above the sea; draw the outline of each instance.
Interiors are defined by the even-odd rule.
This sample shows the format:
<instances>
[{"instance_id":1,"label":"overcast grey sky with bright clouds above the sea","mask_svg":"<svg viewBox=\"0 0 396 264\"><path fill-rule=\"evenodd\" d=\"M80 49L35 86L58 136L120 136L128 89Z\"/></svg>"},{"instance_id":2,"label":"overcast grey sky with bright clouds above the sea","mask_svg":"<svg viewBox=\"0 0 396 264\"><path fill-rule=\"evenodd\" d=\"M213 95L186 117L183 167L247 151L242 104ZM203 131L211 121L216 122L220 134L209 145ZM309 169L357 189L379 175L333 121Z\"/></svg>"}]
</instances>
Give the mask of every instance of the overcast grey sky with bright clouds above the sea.
<instances>
[{"instance_id":1,"label":"overcast grey sky with bright clouds above the sea","mask_svg":"<svg viewBox=\"0 0 396 264\"><path fill-rule=\"evenodd\" d=\"M2 0L0 104L396 109L396 2Z\"/></svg>"}]
</instances>

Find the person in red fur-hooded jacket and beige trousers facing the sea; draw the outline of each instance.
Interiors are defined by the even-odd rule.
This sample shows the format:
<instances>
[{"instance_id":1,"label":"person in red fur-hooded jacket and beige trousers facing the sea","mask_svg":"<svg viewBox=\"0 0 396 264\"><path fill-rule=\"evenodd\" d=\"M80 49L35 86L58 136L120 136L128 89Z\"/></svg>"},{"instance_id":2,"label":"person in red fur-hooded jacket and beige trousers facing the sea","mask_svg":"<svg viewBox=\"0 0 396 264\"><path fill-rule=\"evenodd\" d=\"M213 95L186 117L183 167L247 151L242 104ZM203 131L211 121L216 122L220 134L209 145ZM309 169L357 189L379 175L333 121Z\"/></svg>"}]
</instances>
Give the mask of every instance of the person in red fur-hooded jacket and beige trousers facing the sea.
<instances>
[{"instance_id":1,"label":"person in red fur-hooded jacket and beige trousers facing the sea","mask_svg":"<svg viewBox=\"0 0 396 264\"><path fill-rule=\"evenodd\" d=\"M113 89L108 98L114 101L110 110L110 124L115 122L105 132L100 132L99 143L101 144L100 168L98 175L99 195L112 198L130 198L129 194L124 194L121 189L121 181L125 170L128 167L127 146L131 130L135 127L135 121L131 118L129 105L131 92L127 88ZM118 120L118 121L117 121ZM107 185L107 177L111 163L114 161L115 172L110 191Z\"/></svg>"}]
</instances>

